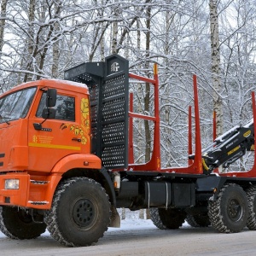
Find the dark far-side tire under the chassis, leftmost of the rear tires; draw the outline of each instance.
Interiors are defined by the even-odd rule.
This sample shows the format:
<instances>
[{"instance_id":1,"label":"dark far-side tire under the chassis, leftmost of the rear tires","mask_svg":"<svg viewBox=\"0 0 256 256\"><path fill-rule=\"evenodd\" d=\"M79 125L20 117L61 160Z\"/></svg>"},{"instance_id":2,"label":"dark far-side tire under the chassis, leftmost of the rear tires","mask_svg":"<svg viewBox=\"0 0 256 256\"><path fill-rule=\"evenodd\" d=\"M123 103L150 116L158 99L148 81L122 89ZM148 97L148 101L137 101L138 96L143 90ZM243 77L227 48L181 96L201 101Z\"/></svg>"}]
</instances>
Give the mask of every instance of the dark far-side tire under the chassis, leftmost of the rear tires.
<instances>
[{"instance_id":1,"label":"dark far-side tire under the chassis, leftmost of the rear tires","mask_svg":"<svg viewBox=\"0 0 256 256\"><path fill-rule=\"evenodd\" d=\"M150 208L150 218L160 230L177 230L186 218L186 212L180 209Z\"/></svg>"}]
</instances>

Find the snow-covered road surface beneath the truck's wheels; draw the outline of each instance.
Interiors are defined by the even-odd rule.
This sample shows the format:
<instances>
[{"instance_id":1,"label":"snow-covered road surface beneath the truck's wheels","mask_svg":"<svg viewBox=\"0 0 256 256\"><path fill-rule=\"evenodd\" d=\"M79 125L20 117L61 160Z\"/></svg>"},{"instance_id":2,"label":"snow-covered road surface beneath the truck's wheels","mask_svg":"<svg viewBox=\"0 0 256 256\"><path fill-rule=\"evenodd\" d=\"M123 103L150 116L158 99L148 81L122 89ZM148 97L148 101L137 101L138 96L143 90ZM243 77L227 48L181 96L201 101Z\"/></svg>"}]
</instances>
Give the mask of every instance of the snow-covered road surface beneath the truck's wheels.
<instances>
[{"instance_id":1,"label":"snow-covered road surface beneath the truck's wheels","mask_svg":"<svg viewBox=\"0 0 256 256\"><path fill-rule=\"evenodd\" d=\"M218 234L212 228L158 230L150 220L127 219L121 229L109 229L92 247L62 247L49 233L35 240L15 241L0 232L1 255L255 255L256 231Z\"/></svg>"}]
</instances>

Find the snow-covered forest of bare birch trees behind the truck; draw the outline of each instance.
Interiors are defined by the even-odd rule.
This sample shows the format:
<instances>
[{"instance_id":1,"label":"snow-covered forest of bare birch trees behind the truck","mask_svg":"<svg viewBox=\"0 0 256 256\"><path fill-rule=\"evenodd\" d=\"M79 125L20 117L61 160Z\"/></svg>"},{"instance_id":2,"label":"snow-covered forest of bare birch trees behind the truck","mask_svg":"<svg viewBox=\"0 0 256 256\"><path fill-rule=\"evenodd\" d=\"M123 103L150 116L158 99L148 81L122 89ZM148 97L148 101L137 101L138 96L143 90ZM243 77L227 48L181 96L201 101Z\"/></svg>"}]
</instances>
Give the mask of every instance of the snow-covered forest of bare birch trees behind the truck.
<instances>
[{"instance_id":1,"label":"snow-covered forest of bare birch trees behind the truck","mask_svg":"<svg viewBox=\"0 0 256 256\"><path fill-rule=\"evenodd\" d=\"M2 0L0 90L27 81L63 79L64 70L113 53L130 72L152 78L159 67L161 165L188 161L188 108L197 75L202 147L252 119L255 90L255 0ZM135 111L150 114L149 84L130 84ZM152 150L153 123L134 121L137 163ZM230 168L252 165L247 154ZM229 171L229 170L227 170Z\"/></svg>"}]
</instances>

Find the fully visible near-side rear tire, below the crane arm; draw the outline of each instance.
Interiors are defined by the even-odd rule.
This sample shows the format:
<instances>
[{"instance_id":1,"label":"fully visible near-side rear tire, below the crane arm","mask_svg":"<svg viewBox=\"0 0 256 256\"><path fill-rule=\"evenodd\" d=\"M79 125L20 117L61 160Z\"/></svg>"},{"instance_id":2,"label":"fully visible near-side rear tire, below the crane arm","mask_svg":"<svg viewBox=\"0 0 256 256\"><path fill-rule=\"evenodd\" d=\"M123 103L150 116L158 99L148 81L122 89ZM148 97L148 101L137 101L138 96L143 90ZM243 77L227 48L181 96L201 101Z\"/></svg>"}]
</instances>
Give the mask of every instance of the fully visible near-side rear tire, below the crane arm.
<instances>
[{"instance_id":1,"label":"fully visible near-side rear tire, below the crane arm","mask_svg":"<svg viewBox=\"0 0 256 256\"><path fill-rule=\"evenodd\" d=\"M224 185L217 200L209 201L208 214L212 227L221 233L236 233L247 224L247 195L235 183Z\"/></svg>"}]
</instances>

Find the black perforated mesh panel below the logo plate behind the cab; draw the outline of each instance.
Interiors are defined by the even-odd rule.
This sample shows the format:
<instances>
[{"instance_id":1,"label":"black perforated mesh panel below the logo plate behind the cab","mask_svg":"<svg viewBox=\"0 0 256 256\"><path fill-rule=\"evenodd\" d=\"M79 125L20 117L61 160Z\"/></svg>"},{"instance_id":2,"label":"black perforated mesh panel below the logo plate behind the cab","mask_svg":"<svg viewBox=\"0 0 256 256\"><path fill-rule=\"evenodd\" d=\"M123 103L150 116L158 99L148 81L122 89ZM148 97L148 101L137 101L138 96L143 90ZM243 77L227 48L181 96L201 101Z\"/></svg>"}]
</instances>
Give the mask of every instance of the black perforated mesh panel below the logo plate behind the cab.
<instances>
[{"instance_id":1,"label":"black perforated mesh panel below the logo plate behind the cab","mask_svg":"<svg viewBox=\"0 0 256 256\"><path fill-rule=\"evenodd\" d=\"M125 79L125 74L121 74L107 79L102 87L102 163L109 169L127 165L128 88L125 88Z\"/></svg>"}]
</instances>

